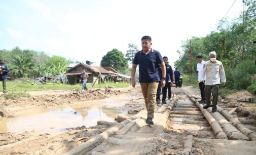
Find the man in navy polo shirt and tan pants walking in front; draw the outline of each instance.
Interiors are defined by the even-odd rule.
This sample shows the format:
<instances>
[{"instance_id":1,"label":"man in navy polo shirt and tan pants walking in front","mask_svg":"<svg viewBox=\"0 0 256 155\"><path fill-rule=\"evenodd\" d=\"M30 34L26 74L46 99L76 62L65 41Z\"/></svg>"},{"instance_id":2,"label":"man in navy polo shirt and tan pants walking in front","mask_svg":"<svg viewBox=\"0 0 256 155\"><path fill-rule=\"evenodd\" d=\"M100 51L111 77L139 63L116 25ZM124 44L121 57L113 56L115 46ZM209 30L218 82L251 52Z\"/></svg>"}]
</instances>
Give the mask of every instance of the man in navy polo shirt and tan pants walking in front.
<instances>
[{"instance_id":1,"label":"man in navy polo shirt and tan pants walking in front","mask_svg":"<svg viewBox=\"0 0 256 155\"><path fill-rule=\"evenodd\" d=\"M142 50L137 52L132 62L131 84L135 88L135 72L139 65L139 83L148 110L148 118L146 123L153 125L153 118L156 104L156 93L159 81L165 86L165 64L164 60L157 50L151 48L152 40L150 36L141 38ZM161 65L162 80L158 74L158 66Z\"/></svg>"}]
</instances>

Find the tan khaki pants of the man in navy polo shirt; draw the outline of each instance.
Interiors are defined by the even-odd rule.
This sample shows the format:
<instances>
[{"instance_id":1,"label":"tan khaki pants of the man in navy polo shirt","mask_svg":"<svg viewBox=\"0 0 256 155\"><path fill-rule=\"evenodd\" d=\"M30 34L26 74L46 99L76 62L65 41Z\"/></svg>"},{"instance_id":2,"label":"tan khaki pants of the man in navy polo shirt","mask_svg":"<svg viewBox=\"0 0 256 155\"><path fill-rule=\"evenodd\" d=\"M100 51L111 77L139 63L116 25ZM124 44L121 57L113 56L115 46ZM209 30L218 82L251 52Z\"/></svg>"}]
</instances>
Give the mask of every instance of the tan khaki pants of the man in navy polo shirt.
<instances>
[{"instance_id":1,"label":"tan khaki pants of the man in navy polo shirt","mask_svg":"<svg viewBox=\"0 0 256 155\"><path fill-rule=\"evenodd\" d=\"M140 83L140 87L148 110L148 118L154 118L158 82Z\"/></svg>"}]
</instances>

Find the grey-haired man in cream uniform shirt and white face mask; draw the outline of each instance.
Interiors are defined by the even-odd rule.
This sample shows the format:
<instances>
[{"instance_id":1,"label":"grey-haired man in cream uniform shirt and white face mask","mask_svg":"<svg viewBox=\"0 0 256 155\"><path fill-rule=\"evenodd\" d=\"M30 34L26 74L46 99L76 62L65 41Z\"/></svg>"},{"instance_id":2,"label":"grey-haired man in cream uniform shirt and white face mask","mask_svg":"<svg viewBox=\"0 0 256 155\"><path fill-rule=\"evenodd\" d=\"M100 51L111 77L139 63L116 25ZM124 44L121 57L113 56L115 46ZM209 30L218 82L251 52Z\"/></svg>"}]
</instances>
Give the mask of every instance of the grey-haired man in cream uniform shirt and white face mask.
<instances>
[{"instance_id":1,"label":"grey-haired man in cream uniform shirt and white face mask","mask_svg":"<svg viewBox=\"0 0 256 155\"><path fill-rule=\"evenodd\" d=\"M216 60L217 54L212 51L209 53L210 60L203 65L203 70L200 75L200 82L204 81L205 77L205 97L206 105L203 107L207 109L212 107L211 112L217 111L218 89L222 82L222 86L226 85L226 75L221 61ZM212 104L211 104L212 93Z\"/></svg>"}]
</instances>

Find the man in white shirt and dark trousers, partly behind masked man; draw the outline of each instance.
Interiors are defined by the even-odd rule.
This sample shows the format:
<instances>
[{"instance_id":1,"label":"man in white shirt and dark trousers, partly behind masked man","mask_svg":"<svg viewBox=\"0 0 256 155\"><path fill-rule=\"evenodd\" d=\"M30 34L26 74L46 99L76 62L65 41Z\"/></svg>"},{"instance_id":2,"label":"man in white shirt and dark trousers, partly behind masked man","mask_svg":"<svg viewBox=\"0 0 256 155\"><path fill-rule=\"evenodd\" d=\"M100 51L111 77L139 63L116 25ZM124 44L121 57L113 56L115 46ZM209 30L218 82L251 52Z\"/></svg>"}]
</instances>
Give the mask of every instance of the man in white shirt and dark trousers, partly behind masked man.
<instances>
[{"instance_id":1,"label":"man in white shirt and dark trousers, partly behind masked man","mask_svg":"<svg viewBox=\"0 0 256 155\"><path fill-rule=\"evenodd\" d=\"M203 60L202 56L197 56L197 71L198 71L198 83L199 83L199 89L201 92L201 101L199 101L199 103L206 103L205 101L205 90L204 90L204 81L205 81L205 77L203 78L204 81L201 81L200 75L202 74L202 70L203 70L203 65L205 64L205 61Z\"/></svg>"}]
</instances>

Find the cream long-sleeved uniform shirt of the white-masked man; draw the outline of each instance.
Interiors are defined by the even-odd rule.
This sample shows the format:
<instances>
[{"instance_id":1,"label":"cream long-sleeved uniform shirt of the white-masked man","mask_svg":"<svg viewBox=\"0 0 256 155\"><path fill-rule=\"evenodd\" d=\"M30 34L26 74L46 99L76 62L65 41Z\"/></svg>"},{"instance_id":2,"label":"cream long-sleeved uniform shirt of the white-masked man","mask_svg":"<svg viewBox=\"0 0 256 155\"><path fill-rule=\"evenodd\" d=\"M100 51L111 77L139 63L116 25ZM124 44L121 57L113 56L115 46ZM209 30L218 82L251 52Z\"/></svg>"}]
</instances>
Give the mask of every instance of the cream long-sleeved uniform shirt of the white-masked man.
<instances>
[{"instance_id":1,"label":"cream long-sleeved uniform shirt of the white-masked man","mask_svg":"<svg viewBox=\"0 0 256 155\"><path fill-rule=\"evenodd\" d=\"M205 77L205 85L217 85L226 83L226 74L221 61L216 60L215 62L206 61L203 65L202 73L200 75L200 81L203 81Z\"/></svg>"}]
</instances>

